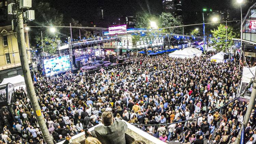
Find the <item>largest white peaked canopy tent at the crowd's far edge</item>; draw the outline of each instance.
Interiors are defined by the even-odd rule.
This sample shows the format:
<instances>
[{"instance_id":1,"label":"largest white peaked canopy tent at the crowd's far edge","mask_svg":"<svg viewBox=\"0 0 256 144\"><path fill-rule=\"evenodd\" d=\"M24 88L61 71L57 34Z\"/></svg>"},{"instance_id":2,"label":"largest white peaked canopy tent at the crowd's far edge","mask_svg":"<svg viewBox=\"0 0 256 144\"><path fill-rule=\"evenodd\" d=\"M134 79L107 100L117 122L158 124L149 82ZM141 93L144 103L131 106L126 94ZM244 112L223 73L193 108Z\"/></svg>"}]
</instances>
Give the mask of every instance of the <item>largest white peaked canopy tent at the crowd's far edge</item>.
<instances>
[{"instance_id":1,"label":"largest white peaked canopy tent at the crowd's far edge","mask_svg":"<svg viewBox=\"0 0 256 144\"><path fill-rule=\"evenodd\" d=\"M176 58L194 58L195 56L201 56L202 51L197 48L188 47L184 49L180 49L179 51L175 51L169 54L169 57L176 57Z\"/></svg>"}]
</instances>

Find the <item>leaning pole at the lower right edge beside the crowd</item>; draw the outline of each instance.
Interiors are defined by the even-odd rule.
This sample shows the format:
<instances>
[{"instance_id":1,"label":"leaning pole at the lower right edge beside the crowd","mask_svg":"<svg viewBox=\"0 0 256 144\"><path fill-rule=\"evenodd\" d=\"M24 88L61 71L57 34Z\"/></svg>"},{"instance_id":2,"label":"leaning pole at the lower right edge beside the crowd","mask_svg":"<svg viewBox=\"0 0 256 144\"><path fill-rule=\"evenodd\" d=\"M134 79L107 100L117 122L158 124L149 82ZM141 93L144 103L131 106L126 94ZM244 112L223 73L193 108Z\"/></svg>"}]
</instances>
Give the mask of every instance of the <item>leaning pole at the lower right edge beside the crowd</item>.
<instances>
[{"instance_id":1,"label":"leaning pole at the lower right edge beside the crowd","mask_svg":"<svg viewBox=\"0 0 256 144\"><path fill-rule=\"evenodd\" d=\"M244 131L243 130L244 127L247 126L248 121L250 119L250 116L252 114L252 109L254 107L255 98L256 98L256 72L254 74L253 89L252 89L252 93L251 93L251 98L250 98L250 101L249 101L249 104L248 104L248 107L247 107L247 111L246 111L245 116L244 116L242 127L241 127L241 129L240 129L240 131L238 133L238 136L237 136L237 139L235 141L235 144L240 144L242 131Z\"/></svg>"}]
</instances>

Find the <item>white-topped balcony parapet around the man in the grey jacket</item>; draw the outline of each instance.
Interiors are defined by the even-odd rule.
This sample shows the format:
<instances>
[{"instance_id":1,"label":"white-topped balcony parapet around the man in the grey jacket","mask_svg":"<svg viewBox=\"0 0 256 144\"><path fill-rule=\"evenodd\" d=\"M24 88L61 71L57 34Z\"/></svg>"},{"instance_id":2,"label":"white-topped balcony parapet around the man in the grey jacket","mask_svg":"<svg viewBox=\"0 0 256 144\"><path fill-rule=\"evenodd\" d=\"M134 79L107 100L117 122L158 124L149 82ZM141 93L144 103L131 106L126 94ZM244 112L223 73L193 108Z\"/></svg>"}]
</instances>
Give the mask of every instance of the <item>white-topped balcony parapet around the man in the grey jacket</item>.
<instances>
[{"instance_id":1,"label":"white-topped balcony parapet around the man in the grey jacket","mask_svg":"<svg viewBox=\"0 0 256 144\"><path fill-rule=\"evenodd\" d=\"M126 140L126 144L131 144L134 141L137 140L141 140L144 141L146 144L166 144L165 142L155 138L154 136L140 130L137 127L134 127L133 125L127 123L125 120L123 120L126 124L127 124L127 130L125 132L125 140ZM100 126L102 124L99 124L97 126ZM89 132L93 131L95 127L90 128ZM83 143L85 141L85 136L84 136L84 132L81 132L77 135L72 136L72 139L70 140L70 142L73 143ZM64 141L59 142L57 144L63 144Z\"/></svg>"}]
</instances>

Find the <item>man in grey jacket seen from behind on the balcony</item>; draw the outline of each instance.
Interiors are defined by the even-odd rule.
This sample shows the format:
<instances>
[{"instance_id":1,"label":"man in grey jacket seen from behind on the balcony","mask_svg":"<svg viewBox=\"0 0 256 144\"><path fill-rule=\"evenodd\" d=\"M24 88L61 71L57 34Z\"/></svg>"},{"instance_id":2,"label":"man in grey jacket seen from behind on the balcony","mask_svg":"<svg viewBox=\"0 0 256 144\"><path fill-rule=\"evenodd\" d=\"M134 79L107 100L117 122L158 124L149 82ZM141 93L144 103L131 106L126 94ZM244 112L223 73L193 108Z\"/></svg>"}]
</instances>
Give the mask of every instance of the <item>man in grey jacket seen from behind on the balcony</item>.
<instances>
[{"instance_id":1,"label":"man in grey jacket seen from behind on the balcony","mask_svg":"<svg viewBox=\"0 0 256 144\"><path fill-rule=\"evenodd\" d=\"M95 127L91 135L102 144L125 144L125 131L127 125L122 120L114 120L113 113L105 111L101 115L103 126Z\"/></svg>"}]
</instances>

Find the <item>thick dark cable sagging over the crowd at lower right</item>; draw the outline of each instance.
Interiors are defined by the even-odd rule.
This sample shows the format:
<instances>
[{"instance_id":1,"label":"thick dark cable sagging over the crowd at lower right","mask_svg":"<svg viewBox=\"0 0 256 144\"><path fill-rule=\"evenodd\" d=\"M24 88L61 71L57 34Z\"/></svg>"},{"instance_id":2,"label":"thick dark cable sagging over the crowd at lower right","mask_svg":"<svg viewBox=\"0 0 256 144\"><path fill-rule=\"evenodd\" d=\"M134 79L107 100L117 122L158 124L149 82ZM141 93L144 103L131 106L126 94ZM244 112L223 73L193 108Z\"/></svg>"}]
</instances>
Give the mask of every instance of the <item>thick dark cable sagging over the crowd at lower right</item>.
<instances>
[{"instance_id":1,"label":"thick dark cable sagging over the crowd at lower right","mask_svg":"<svg viewBox=\"0 0 256 144\"><path fill-rule=\"evenodd\" d=\"M244 89L244 91L241 93L241 95L235 99L233 99L232 101L230 101L229 103L223 105L222 107L218 108L218 109L215 109L214 111L210 112L210 113L207 113L207 114L204 114L202 116L199 116L199 117L203 117L205 115L208 115L208 114L211 114L211 113L214 113L216 111L219 111L221 110L223 107L229 105L230 103L234 102L235 100L237 100L238 98L240 98L241 96L243 96L245 94L245 92L248 90L248 88L251 87L253 81L251 81L250 83L248 83L246 85L246 88ZM183 120L183 121L179 121L179 122L175 122L175 123L168 123L168 124L157 124L157 125L145 125L145 124L131 124L131 125L136 125L136 126L165 126L165 125L171 125L171 124L179 124L179 123L184 123L186 121L190 121L190 120L194 120L194 119L198 119L199 117L196 117L196 118L192 118L192 119L188 119L188 120Z\"/></svg>"}]
</instances>

